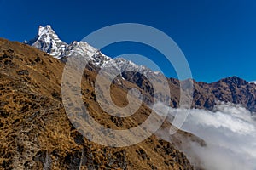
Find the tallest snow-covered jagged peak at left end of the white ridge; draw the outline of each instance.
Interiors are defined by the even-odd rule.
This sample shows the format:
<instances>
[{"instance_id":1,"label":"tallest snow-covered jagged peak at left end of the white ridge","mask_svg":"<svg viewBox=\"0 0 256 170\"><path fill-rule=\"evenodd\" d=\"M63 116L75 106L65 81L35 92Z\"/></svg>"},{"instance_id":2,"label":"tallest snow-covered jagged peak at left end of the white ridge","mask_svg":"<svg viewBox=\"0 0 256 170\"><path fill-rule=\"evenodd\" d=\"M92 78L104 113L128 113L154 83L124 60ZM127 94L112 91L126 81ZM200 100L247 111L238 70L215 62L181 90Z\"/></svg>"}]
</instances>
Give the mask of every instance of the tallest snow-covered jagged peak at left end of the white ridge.
<instances>
[{"instance_id":1,"label":"tallest snow-covered jagged peak at left end of the white ridge","mask_svg":"<svg viewBox=\"0 0 256 170\"><path fill-rule=\"evenodd\" d=\"M45 27L39 26L37 37L27 42L27 44L41 49L57 59L61 58L64 50L67 48L67 43L62 42L49 25Z\"/></svg>"}]
</instances>

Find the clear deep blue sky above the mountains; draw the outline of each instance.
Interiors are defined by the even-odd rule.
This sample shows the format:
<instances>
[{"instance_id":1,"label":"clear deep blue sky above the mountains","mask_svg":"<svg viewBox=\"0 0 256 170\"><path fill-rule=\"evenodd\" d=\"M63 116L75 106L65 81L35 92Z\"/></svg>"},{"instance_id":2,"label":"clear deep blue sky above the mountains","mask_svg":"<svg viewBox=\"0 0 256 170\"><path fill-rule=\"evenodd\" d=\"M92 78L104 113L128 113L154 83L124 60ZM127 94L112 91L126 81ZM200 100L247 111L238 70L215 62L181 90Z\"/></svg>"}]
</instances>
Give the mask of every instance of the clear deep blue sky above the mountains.
<instances>
[{"instance_id":1,"label":"clear deep blue sky above the mountains","mask_svg":"<svg viewBox=\"0 0 256 170\"><path fill-rule=\"evenodd\" d=\"M65 42L81 40L97 29L135 22L166 32L183 50L197 81L238 76L256 80L256 1L238 0L0 0L0 37L22 42L35 37L39 25L51 25ZM147 55L158 64L158 52L142 44L115 44L103 49ZM160 65L167 77L172 66Z\"/></svg>"}]
</instances>

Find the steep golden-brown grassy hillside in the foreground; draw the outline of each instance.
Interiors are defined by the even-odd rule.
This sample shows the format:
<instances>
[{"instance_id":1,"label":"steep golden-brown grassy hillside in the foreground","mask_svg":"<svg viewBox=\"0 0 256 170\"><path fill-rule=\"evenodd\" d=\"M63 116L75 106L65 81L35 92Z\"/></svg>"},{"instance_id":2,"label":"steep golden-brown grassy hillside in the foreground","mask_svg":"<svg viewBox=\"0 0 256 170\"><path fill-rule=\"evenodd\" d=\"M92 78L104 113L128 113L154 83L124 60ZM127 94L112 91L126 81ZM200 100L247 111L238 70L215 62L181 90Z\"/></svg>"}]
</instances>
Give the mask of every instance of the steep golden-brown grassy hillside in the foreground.
<instances>
[{"instance_id":1,"label":"steep golden-brown grassy hillside in the foreground","mask_svg":"<svg viewBox=\"0 0 256 170\"><path fill-rule=\"evenodd\" d=\"M85 139L61 103L64 64L49 54L0 39L0 65L1 169L193 169L183 153L154 135L125 148L103 147ZM127 119L104 113L91 86L95 77L95 71L85 70L81 91L97 122L118 129L137 126L147 118L150 109L146 105ZM113 97L124 105L125 90L113 88ZM162 128L168 126L165 122Z\"/></svg>"}]
</instances>

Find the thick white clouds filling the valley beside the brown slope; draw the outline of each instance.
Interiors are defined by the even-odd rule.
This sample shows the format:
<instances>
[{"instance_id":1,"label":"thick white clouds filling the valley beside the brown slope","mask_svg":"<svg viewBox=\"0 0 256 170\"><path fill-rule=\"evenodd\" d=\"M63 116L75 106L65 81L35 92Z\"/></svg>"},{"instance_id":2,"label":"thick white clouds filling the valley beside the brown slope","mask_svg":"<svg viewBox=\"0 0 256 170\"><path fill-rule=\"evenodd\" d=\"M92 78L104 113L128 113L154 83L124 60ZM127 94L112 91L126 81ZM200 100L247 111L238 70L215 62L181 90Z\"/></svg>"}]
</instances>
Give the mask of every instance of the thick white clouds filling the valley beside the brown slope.
<instances>
[{"instance_id":1,"label":"thick white clouds filling the valley beside the brown slope","mask_svg":"<svg viewBox=\"0 0 256 170\"><path fill-rule=\"evenodd\" d=\"M163 105L159 108L166 111ZM177 113L177 109L168 110L170 116ZM182 130L195 134L207 145L189 141L189 147L186 144L186 147L179 149L195 167L207 170L256 170L255 117L241 105L221 103L213 111L192 109Z\"/></svg>"}]
</instances>

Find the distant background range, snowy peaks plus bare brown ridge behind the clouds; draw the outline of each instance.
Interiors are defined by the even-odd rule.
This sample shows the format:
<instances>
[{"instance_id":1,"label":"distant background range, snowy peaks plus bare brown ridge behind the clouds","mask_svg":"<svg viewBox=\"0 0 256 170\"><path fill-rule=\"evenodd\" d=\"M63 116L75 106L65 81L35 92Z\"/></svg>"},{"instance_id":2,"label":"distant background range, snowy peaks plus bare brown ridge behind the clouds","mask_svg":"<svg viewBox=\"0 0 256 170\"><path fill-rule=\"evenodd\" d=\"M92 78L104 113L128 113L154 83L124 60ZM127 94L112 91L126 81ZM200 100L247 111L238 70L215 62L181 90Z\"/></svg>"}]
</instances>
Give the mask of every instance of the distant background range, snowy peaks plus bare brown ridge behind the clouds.
<instances>
[{"instance_id":1,"label":"distant background range, snowy peaks plus bare brown ridge behind the clouds","mask_svg":"<svg viewBox=\"0 0 256 170\"><path fill-rule=\"evenodd\" d=\"M88 56L86 54L90 53L90 56L93 56L93 59L88 60L90 60L92 65L95 65L96 67L102 67L106 65L106 63L111 62L110 57L102 54L96 48L91 47L87 42L72 42L69 45L67 45L66 42L62 42L51 26L39 26L38 36L32 41L27 42L27 44L54 56L56 59L64 60L66 57L73 55L84 57ZM129 67L132 71L142 71L143 74L146 75L158 74L156 71L151 71L143 65L136 65L126 59L117 59L116 64L119 65L119 67ZM113 63L110 65L118 69ZM147 99L152 97L153 87L146 87L147 85L150 86L150 82L148 82L145 77L143 78L141 75L129 74L127 72L120 72L120 74L123 76L123 79L119 79L120 84L124 82L125 77L129 82L136 84L138 88L147 91ZM179 88L179 81L177 79L169 78L169 82L172 89ZM256 112L256 85L252 82L247 82L239 77L227 77L218 82L205 83L194 81L193 84L193 107L195 108L206 108L211 110L213 105L222 101L241 104L249 111ZM172 96L171 105L175 107L178 104L178 95L174 93Z\"/></svg>"}]
</instances>

